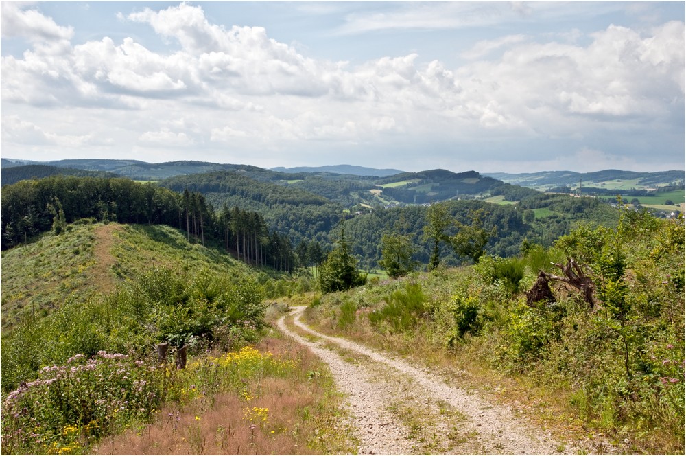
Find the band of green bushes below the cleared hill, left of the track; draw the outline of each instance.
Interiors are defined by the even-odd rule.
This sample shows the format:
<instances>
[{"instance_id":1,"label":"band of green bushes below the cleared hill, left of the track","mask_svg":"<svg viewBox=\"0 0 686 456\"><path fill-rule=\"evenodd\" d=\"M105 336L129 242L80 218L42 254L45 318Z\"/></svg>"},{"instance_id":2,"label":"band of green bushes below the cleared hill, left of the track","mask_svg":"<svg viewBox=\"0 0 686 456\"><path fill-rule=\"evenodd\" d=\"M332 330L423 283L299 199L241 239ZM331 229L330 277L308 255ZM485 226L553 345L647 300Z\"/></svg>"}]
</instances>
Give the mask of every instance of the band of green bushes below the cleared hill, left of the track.
<instances>
[{"instance_id":1,"label":"band of green bushes below the cleared hill, left of the track","mask_svg":"<svg viewBox=\"0 0 686 456\"><path fill-rule=\"evenodd\" d=\"M3 333L3 391L75 354L110 350L143 356L158 342L200 350L255 341L264 325L261 286L252 277L208 274L154 267L110 295L71 301Z\"/></svg>"}]
</instances>

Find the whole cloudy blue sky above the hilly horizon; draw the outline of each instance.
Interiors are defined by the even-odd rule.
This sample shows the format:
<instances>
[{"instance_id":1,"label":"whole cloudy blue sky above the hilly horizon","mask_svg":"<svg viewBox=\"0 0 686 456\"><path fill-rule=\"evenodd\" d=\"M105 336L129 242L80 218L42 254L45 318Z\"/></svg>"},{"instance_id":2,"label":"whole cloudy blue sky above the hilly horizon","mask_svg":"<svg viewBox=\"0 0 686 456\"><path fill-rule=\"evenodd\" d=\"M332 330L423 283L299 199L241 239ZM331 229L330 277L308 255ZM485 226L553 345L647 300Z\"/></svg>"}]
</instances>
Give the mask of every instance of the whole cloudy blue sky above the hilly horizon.
<instances>
[{"instance_id":1,"label":"whole cloudy blue sky above the hilly horizon","mask_svg":"<svg viewBox=\"0 0 686 456\"><path fill-rule=\"evenodd\" d=\"M686 168L684 1L0 5L3 158Z\"/></svg>"}]
</instances>

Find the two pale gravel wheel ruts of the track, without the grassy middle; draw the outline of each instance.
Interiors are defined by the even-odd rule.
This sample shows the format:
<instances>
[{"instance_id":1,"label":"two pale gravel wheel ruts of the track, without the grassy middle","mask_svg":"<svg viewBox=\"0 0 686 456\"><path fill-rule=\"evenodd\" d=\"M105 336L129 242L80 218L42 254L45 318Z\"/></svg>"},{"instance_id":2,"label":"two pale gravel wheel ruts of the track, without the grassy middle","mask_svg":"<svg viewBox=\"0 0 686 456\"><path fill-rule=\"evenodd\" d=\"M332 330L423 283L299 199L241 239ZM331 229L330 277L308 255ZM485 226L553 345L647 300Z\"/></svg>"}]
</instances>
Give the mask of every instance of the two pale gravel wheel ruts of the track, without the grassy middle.
<instances>
[{"instance_id":1,"label":"two pale gravel wheel ruts of the track, without the grassy middle","mask_svg":"<svg viewBox=\"0 0 686 456\"><path fill-rule=\"evenodd\" d=\"M366 356L373 363L387 365L394 371L409 376L422 394L434 400L447 402L451 407L467 417L462 423L462 433L471 435L473 440L467 446L454 448L466 454L517 454L550 455L575 454L580 451L590 453L591 448L569 446L556 440L552 435L536 429L512 413L510 407L491 404L482 398L469 394L464 389L447 385L438 376L418 369L405 361L379 354L358 343L331 337L311 330L302 321L305 307L296 307L291 312L294 324L301 330L312 334L322 341L334 343L346 350ZM353 415L353 426L358 429L359 453L410 454L416 445L408 438L407 428L388 412L387 406L392 398L388 387L370 381L364 369L344 361L338 354L324 348L322 341L307 341L285 324L285 317L278 321L279 328L289 337L309 347L322 358L329 367L339 389L348 395L348 406ZM563 450L563 451L560 451Z\"/></svg>"}]
</instances>

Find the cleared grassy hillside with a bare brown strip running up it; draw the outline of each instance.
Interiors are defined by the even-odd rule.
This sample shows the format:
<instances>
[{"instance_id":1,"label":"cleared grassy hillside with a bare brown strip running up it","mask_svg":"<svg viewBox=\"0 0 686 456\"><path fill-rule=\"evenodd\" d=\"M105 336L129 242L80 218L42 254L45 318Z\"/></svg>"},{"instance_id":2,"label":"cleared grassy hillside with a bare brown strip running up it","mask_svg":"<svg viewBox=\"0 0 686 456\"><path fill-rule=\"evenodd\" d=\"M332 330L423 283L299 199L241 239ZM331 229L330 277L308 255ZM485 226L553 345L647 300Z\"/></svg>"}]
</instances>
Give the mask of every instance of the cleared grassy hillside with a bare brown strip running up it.
<instances>
[{"instance_id":1,"label":"cleared grassy hillside with a bare brown strip running up it","mask_svg":"<svg viewBox=\"0 0 686 456\"><path fill-rule=\"evenodd\" d=\"M191 244L163 225L71 225L56 236L2 253L2 328L29 315L47 315L70 295L85 297L115 288L150 266L212 268L247 266L217 249Z\"/></svg>"}]
</instances>

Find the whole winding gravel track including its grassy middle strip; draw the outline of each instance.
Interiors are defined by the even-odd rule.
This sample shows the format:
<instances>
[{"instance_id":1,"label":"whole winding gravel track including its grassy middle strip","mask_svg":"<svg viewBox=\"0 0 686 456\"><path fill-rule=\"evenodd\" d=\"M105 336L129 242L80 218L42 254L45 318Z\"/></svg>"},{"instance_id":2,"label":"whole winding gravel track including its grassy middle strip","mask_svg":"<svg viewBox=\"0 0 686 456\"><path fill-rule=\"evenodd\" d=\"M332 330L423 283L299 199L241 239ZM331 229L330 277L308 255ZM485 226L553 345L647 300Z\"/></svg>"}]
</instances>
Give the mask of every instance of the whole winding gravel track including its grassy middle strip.
<instances>
[{"instance_id":1,"label":"whole winding gravel track including its grassy middle strip","mask_svg":"<svg viewBox=\"0 0 686 456\"><path fill-rule=\"evenodd\" d=\"M358 453L552 455L581 451L517 418L510 407L491 404L459 387L447 385L438 376L406 361L311 330L300 321L304 310L305 307L294 308L291 313L294 324L320 340L309 341L296 334L286 326L285 317L279 319L278 326L329 365L338 389L348 396L350 424L357 429L359 440ZM326 346L331 344L353 353L362 361L346 361ZM385 381L379 380L379 370L388 374ZM404 389L401 389L401 378L406 378ZM412 387L408 388L407 382ZM413 427L412 423L408 425L407 418L399 417L397 405L403 400L418 403L418 398L423 398L419 413L425 415L426 426L434 426L431 435L418 433L423 426ZM449 404L453 413L445 413L445 404ZM436 410L438 407L441 407L440 413ZM428 423L431 416L438 416L443 421ZM433 439L432 443L427 443L427 439ZM584 453L592 452L591 448L584 447Z\"/></svg>"}]
</instances>

